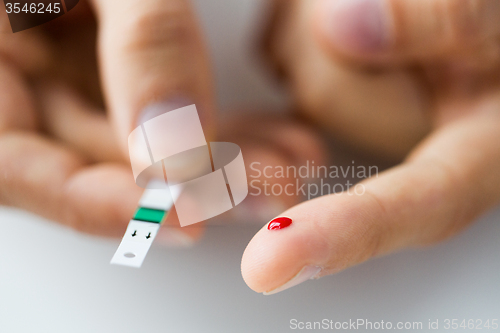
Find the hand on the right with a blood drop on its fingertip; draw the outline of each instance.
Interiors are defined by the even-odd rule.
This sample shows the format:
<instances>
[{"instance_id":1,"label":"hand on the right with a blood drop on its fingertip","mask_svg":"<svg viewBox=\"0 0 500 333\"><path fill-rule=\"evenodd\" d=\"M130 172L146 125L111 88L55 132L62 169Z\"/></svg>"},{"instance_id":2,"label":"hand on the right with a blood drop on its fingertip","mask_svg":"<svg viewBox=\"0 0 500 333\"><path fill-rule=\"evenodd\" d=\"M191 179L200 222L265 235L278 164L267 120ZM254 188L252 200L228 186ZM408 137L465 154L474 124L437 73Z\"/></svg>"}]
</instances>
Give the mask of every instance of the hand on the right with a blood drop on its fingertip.
<instances>
[{"instance_id":1,"label":"hand on the right with a blood drop on its fingertip","mask_svg":"<svg viewBox=\"0 0 500 333\"><path fill-rule=\"evenodd\" d=\"M500 202L497 0L279 1L268 51L303 117L352 149L404 161L285 211L242 260L278 292L446 239Z\"/></svg>"}]
</instances>

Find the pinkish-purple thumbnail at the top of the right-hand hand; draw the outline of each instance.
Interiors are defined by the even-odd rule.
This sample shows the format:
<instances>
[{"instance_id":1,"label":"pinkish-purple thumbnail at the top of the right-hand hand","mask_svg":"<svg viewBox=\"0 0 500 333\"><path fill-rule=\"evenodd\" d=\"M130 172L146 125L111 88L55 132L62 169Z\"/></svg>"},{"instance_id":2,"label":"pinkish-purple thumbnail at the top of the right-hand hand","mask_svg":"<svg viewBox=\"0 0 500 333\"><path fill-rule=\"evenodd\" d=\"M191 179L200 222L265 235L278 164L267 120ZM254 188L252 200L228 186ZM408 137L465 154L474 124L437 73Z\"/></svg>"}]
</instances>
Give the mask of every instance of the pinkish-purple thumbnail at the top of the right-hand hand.
<instances>
[{"instance_id":1,"label":"pinkish-purple thumbnail at the top of the right-hand hand","mask_svg":"<svg viewBox=\"0 0 500 333\"><path fill-rule=\"evenodd\" d=\"M390 39L389 13L382 0L328 0L323 31L348 53L379 52Z\"/></svg>"}]
</instances>

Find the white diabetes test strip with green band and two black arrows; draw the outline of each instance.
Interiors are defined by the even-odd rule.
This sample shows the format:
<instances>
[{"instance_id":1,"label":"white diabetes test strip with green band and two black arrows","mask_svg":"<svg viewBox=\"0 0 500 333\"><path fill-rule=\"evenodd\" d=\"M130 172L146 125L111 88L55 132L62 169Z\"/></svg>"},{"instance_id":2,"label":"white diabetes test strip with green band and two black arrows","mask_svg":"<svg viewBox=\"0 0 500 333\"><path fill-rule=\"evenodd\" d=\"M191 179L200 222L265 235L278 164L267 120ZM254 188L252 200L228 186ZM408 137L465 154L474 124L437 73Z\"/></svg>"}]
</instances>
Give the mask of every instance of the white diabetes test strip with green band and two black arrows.
<instances>
[{"instance_id":1,"label":"white diabetes test strip with green band and two black arrows","mask_svg":"<svg viewBox=\"0 0 500 333\"><path fill-rule=\"evenodd\" d=\"M153 240L179 193L171 193L163 180L151 181L139 200L111 264L140 268Z\"/></svg>"}]
</instances>

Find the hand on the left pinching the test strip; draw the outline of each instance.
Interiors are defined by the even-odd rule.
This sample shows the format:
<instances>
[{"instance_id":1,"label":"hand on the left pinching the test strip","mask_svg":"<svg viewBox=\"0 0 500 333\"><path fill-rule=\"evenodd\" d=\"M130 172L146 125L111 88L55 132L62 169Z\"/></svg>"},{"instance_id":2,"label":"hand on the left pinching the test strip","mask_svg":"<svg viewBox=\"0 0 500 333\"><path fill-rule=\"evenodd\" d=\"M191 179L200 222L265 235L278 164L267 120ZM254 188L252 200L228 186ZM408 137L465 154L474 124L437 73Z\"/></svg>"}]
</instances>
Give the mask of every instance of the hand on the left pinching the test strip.
<instances>
[{"instance_id":1,"label":"hand on the left pinching the test strip","mask_svg":"<svg viewBox=\"0 0 500 333\"><path fill-rule=\"evenodd\" d=\"M141 110L193 101L210 132L212 88L188 1L80 1L48 24L2 33L0 202L121 236L142 193L127 149Z\"/></svg>"}]
</instances>

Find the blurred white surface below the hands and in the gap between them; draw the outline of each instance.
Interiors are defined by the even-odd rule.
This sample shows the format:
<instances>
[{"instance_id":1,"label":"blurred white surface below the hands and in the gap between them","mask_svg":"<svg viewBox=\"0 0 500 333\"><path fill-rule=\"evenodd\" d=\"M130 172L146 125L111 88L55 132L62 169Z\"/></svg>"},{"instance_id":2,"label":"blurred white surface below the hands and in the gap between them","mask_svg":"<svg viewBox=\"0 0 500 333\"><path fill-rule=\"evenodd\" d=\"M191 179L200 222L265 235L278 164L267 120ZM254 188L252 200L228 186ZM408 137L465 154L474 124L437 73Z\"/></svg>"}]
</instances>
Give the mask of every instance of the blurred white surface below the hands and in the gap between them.
<instances>
[{"instance_id":1,"label":"blurred white surface below the hands and in the gap between them","mask_svg":"<svg viewBox=\"0 0 500 333\"><path fill-rule=\"evenodd\" d=\"M262 1L196 2L210 28L222 105L279 104L251 66L245 44L255 32L249 18ZM274 333L290 331L293 318L425 323L500 317L498 210L447 243L273 296L254 293L241 278L241 255L257 228L212 227L191 250L154 244L134 270L109 265L119 240L2 208L0 227L1 333Z\"/></svg>"}]
</instances>

